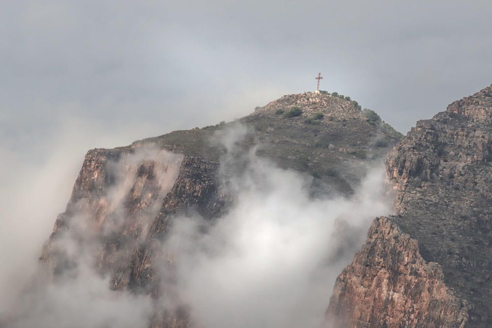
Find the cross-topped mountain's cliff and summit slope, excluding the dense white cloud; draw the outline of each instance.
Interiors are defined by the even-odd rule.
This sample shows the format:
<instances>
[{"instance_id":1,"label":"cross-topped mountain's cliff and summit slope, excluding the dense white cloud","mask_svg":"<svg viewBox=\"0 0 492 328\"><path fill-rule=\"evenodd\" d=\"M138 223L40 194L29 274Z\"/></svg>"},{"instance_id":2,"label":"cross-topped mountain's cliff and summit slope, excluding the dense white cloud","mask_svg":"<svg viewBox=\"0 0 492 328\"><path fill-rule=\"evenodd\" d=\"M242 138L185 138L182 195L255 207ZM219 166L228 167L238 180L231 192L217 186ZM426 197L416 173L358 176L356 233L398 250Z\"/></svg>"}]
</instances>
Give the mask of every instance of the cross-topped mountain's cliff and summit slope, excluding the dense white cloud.
<instances>
[{"instance_id":1,"label":"cross-topped mountain's cliff and summit slope, excluding the dense white cloud","mask_svg":"<svg viewBox=\"0 0 492 328\"><path fill-rule=\"evenodd\" d=\"M237 153L214 142L222 131L240 126L246 133L236 142ZM349 196L367 167L399 139L353 101L305 93L284 96L237 122L90 150L40 261L53 279L69 279L83 254L84 265L110 277L108 288L156 300L151 327L188 327L186 304L168 287L176 277L159 274L162 267L172 272L175 260L163 241L178 214L213 220L234 204L228 179L230 170L241 170L241 161L224 166L225 155L240 159L254 151L311 176L313 197Z\"/></svg>"}]
</instances>

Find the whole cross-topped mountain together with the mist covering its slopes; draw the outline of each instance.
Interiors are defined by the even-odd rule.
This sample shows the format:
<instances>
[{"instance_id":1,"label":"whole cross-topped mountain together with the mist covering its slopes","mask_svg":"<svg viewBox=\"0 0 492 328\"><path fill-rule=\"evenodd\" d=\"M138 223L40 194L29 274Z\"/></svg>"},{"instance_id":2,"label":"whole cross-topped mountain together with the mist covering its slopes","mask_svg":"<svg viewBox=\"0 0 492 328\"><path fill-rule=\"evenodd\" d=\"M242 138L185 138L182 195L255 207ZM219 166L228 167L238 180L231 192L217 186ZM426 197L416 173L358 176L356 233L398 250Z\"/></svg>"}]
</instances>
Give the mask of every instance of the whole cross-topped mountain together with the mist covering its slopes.
<instances>
[{"instance_id":1,"label":"whole cross-topped mountain together with the mist covering its slopes","mask_svg":"<svg viewBox=\"0 0 492 328\"><path fill-rule=\"evenodd\" d=\"M2 325L319 326L370 221L391 213L382 162L400 138L348 97L303 93L92 149Z\"/></svg>"}]
</instances>

